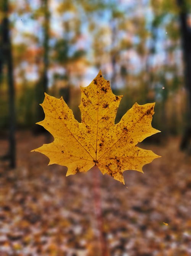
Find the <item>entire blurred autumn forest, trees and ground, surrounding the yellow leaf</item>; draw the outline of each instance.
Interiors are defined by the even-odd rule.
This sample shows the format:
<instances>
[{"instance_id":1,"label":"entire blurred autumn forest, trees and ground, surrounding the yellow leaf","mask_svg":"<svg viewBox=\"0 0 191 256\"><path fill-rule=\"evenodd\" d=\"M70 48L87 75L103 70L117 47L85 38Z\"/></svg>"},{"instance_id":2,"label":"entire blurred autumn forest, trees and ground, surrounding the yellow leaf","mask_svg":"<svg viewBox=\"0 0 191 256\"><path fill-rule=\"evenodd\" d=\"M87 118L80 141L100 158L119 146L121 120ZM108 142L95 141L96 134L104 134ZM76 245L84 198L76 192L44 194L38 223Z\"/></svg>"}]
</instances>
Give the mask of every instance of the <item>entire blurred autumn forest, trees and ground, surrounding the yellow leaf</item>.
<instances>
[{"instance_id":1,"label":"entire blurred autumn forest, trees and ground, surrounding the yellow leaf","mask_svg":"<svg viewBox=\"0 0 191 256\"><path fill-rule=\"evenodd\" d=\"M30 153L51 140L35 125L44 92L80 121L79 88L99 69L123 95L116 122L134 102L156 102L162 133L144 147L162 160L129 171L129 190L97 170L66 178ZM190 0L0 0L0 255L191 255L180 147L191 152Z\"/></svg>"}]
</instances>

